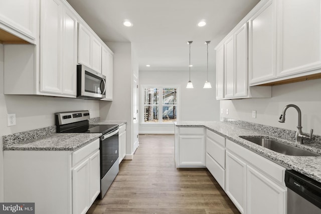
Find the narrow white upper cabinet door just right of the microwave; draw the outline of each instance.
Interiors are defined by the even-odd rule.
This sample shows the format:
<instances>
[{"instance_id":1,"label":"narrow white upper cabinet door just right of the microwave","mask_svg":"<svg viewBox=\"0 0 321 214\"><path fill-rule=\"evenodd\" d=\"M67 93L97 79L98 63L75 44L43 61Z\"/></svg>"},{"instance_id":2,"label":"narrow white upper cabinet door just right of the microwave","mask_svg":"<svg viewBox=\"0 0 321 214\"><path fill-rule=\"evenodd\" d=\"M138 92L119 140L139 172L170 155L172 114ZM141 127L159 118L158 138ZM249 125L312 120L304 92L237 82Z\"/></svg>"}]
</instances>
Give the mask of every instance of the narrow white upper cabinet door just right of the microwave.
<instances>
[{"instance_id":1,"label":"narrow white upper cabinet door just right of the microwave","mask_svg":"<svg viewBox=\"0 0 321 214\"><path fill-rule=\"evenodd\" d=\"M113 53L104 46L101 52L101 74L106 76L106 98L101 100L112 100Z\"/></svg>"}]
</instances>

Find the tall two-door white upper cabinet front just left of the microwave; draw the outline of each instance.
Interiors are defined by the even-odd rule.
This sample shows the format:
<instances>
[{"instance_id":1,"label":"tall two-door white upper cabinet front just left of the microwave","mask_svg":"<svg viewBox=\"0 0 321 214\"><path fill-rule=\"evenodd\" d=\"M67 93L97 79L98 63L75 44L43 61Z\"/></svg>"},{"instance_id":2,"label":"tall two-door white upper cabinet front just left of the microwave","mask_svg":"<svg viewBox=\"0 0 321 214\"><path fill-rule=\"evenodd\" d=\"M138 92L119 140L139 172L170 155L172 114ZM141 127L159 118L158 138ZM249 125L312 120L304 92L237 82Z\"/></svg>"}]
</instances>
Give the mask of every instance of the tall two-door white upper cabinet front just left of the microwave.
<instances>
[{"instance_id":1,"label":"tall two-door white upper cabinet front just left of the microwave","mask_svg":"<svg viewBox=\"0 0 321 214\"><path fill-rule=\"evenodd\" d=\"M60 0L42 0L40 25L40 91L76 96L76 18Z\"/></svg>"}]
</instances>

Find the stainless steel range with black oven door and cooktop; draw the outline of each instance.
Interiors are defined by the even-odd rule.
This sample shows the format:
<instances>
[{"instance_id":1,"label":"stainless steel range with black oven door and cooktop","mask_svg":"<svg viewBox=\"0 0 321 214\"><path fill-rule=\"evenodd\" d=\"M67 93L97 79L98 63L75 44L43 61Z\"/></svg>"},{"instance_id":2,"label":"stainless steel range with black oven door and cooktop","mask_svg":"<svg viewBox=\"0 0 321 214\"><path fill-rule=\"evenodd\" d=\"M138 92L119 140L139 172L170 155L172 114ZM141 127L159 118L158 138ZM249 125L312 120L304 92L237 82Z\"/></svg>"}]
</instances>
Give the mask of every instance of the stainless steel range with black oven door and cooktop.
<instances>
[{"instance_id":1,"label":"stainless steel range with black oven door and cooktop","mask_svg":"<svg viewBox=\"0 0 321 214\"><path fill-rule=\"evenodd\" d=\"M118 174L118 125L91 125L89 111L55 114L58 133L102 133L100 137L100 198Z\"/></svg>"}]
</instances>

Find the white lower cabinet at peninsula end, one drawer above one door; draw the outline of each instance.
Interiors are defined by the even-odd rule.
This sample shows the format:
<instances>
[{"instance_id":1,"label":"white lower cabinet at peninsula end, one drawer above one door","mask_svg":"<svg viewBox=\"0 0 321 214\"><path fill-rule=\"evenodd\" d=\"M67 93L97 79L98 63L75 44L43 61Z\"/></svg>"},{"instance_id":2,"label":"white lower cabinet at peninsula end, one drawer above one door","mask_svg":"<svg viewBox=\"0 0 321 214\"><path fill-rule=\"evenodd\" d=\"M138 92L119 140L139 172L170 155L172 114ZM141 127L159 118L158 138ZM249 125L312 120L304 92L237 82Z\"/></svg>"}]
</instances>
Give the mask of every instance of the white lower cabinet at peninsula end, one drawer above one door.
<instances>
[{"instance_id":1,"label":"white lower cabinet at peninsula end, one drawer above one door","mask_svg":"<svg viewBox=\"0 0 321 214\"><path fill-rule=\"evenodd\" d=\"M179 127L176 129L175 161L180 167L205 167L204 128Z\"/></svg>"}]
</instances>

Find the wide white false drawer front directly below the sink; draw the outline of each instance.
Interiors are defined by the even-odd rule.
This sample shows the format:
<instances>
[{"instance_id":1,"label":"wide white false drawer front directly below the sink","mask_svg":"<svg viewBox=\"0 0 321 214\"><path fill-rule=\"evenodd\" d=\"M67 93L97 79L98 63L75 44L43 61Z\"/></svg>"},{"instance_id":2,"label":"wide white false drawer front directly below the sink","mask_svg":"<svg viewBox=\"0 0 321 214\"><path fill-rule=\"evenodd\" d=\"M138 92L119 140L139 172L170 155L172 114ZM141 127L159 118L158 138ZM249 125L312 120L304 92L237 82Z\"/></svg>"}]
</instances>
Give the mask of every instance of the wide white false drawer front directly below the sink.
<instances>
[{"instance_id":1,"label":"wide white false drawer front directly below the sink","mask_svg":"<svg viewBox=\"0 0 321 214\"><path fill-rule=\"evenodd\" d=\"M280 184L284 184L284 167L228 139L226 139L226 149L246 160L248 164L254 166L261 173L274 179Z\"/></svg>"}]
</instances>

